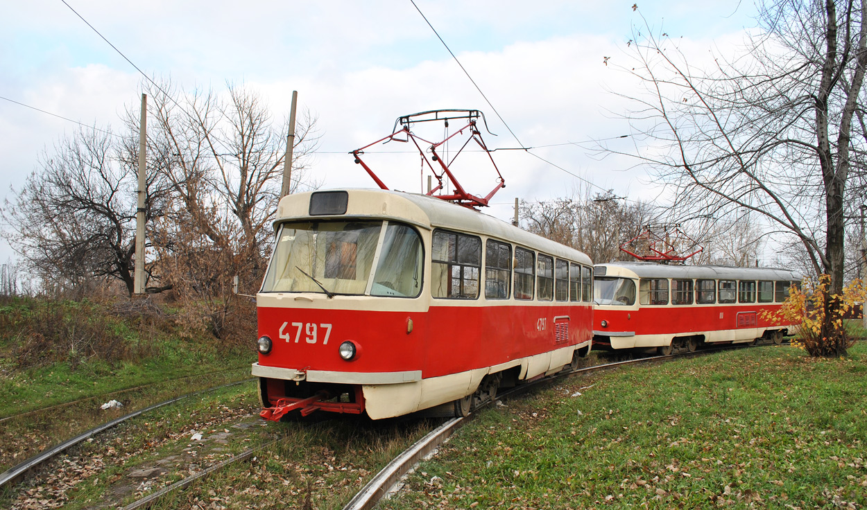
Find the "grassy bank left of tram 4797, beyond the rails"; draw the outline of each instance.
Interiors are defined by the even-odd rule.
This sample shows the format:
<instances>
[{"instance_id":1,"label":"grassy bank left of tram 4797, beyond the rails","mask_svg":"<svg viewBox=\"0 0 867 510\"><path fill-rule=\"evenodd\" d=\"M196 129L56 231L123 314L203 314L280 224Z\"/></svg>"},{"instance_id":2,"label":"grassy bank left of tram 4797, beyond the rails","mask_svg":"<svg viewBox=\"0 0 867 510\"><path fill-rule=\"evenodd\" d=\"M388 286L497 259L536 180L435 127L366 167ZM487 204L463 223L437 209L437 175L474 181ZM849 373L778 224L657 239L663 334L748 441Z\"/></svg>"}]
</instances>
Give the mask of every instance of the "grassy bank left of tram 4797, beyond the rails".
<instances>
[{"instance_id":1,"label":"grassy bank left of tram 4797, beyond the rails","mask_svg":"<svg viewBox=\"0 0 867 510\"><path fill-rule=\"evenodd\" d=\"M0 316L0 418L256 360L255 339L249 349L225 345L181 334L171 318L88 301L17 298Z\"/></svg>"}]
</instances>

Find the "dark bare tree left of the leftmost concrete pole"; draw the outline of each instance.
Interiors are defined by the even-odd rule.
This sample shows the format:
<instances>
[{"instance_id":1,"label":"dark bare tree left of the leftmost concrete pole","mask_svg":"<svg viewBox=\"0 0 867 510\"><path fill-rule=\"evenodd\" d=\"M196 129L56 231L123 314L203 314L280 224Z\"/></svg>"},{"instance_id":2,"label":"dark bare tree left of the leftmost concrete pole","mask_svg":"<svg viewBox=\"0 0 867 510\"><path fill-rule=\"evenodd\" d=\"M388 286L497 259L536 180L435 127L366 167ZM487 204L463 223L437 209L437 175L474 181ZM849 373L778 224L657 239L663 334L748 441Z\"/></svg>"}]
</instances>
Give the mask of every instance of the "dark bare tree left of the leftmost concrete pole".
<instances>
[{"instance_id":1,"label":"dark bare tree left of the leftmost concrete pole","mask_svg":"<svg viewBox=\"0 0 867 510\"><path fill-rule=\"evenodd\" d=\"M110 277L133 291L134 167L108 132L81 129L46 152L3 217L4 236L45 285L81 290Z\"/></svg>"}]
</instances>

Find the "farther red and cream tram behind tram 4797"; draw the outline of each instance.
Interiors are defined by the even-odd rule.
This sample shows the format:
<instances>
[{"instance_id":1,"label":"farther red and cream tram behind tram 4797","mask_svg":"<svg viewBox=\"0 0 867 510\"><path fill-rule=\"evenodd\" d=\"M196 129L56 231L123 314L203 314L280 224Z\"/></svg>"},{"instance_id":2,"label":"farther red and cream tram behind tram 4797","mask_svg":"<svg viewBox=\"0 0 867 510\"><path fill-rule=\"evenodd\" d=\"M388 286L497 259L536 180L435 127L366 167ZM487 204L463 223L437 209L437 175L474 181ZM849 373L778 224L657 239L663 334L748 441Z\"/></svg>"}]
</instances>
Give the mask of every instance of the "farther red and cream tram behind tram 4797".
<instances>
[{"instance_id":1,"label":"farther red and cream tram behind tram 4797","mask_svg":"<svg viewBox=\"0 0 867 510\"><path fill-rule=\"evenodd\" d=\"M595 349L694 351L701 344L780 343L793 324L772 324L800 274L785 269L666 265L646 261L594 269Z\"/></svg>"}]
</instances>

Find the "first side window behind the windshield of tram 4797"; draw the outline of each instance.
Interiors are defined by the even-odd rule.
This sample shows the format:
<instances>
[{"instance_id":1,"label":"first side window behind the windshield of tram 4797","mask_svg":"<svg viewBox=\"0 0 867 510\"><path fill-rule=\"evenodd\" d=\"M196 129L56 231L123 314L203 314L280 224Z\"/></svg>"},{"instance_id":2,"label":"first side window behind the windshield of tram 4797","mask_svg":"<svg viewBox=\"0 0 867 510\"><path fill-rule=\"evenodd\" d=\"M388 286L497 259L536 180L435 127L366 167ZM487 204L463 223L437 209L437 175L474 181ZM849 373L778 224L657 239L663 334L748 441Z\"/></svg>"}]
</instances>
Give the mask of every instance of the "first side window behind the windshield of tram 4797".
<instances>
[{"instance_id":1,"label":"first side window behind the windshield of tram 4797","mask_svg":"<svg viewBox=\"0 0 867 510\"><path fill-rule=\"evenodd\" d=\"M479 297L482 241L444 230L433 232L431 258L434 298L474 300Z\"/></svg>"}]
</instances>

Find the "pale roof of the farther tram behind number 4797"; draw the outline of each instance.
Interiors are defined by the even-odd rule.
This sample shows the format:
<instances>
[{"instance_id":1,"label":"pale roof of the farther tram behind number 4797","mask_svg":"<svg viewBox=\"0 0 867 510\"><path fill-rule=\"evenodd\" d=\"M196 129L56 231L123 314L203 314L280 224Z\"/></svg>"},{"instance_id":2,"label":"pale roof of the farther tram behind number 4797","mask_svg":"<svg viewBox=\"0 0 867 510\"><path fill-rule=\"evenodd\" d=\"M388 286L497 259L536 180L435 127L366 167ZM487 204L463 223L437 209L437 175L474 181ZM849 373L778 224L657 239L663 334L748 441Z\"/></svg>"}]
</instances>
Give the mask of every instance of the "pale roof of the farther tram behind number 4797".
<instances>
[{"instance_id":1,"label":"pale roof of the farther tram behind number 4797","mask_svg":"<svg viewBox=\"0 0 867 510\"><path fill-rule=\"evenodd\" d=\"M623 261L596 264L596 267L623 268L639 278L701 278L708 280L792 280L800 281L799 273L780 268L733 268L730 266L688 266L655 262Z\"/></svg>"}]
</instances>

